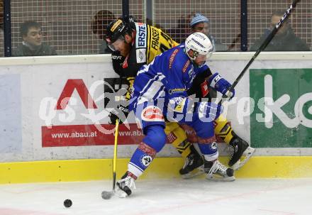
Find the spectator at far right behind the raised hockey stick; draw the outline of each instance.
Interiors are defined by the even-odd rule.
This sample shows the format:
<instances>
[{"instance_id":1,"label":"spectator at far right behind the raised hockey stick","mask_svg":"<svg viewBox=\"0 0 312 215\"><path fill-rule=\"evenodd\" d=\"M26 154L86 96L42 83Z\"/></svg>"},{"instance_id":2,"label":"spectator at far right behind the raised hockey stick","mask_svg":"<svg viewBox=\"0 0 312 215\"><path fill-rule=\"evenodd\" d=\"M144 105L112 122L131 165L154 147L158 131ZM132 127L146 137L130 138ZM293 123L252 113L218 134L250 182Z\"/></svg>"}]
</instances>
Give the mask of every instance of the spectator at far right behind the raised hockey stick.
<instances>
[{"instance_id":1,"label":"spectator at far right behind the raised hockey stick","mask_svg":"<svg viewBox=\"0 0 312 215\"><path fill-rule=\"evenodd\" d=\"M262 37L252 45L250 51L255 51L260 48L264 40L267 38L267 35L269 35L274 26L279 23L282 16L284 16L284 11L276 11L272 13L270 23L271 28L265 29ZM308 45L301 38L295 35L288 19L284 22L283 26L279 28L279 31L277 31L277 34L274 35L274 38L264 51L310 51L310 48L308 48Z\"/></svg>"}]
</instances>

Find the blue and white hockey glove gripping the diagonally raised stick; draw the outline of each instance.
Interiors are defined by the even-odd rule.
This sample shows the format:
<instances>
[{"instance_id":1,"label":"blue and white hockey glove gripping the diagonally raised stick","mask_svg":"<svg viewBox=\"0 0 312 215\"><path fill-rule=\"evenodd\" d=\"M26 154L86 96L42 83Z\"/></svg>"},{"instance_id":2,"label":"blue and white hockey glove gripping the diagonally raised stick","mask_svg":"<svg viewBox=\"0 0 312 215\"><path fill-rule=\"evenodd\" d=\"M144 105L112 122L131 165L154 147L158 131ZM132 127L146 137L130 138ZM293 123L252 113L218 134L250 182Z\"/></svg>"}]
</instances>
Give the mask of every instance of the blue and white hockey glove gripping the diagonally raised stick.
<instances>
[{"instance_id":1,"label":"blue and white hockey glove gripping the diagonally raised stick","mask_svg":"<svg viewBox=\"0 0 312 215\"><path fill-rule=\"evenodd\" d=\"M231 84L225 80L221 75L216 72L215 74L211 75L209 77L208 82L210 83L210 86L216 89L218 92L221 92L221 94L226 94L228 92L228 89L230 89ZM232 89L228 94L227 97L232 99L235 95L235 89Z\"/></svg>"}]
</instances>

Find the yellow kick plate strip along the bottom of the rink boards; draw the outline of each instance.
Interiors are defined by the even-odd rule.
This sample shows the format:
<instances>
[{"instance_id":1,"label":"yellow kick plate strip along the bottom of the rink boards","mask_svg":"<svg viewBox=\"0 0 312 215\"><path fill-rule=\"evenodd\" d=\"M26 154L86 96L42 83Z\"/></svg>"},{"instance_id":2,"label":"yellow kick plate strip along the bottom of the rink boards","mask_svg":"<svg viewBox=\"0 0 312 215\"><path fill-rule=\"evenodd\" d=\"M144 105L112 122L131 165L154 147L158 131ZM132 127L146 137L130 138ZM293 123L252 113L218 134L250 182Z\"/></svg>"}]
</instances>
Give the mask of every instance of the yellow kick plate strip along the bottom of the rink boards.
<instances>
[{"instance_id":1,"label":"yellow kick plate strip along the bottom of the rink boards","mask_svg":"<svg viewBox=\"0 0 312 215\"><path fill-rule=\"evenodd\" d=\"M221 162L228 162L222 157ZM129 159L118 159L116 174L120 178L127 170ZM182 158L156 158L140 179L180 178ZM111 159L50 160L0 163L0 184L28 182L74 182L111 180ZM311 156L255 156L240 170L237 178L298 178L312 177Z\"/></svg>"}]
</instances>

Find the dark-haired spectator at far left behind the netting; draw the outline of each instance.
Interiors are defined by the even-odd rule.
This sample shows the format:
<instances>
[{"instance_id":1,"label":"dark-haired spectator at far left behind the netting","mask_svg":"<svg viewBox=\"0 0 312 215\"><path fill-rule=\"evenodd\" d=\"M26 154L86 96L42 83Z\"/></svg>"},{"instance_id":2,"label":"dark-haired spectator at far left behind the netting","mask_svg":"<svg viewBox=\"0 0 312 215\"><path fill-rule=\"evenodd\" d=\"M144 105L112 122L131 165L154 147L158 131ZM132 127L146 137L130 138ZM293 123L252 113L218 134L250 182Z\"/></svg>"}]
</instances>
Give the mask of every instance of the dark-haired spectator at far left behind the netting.
<instances>
[{"instance_id":1,"label":"dark-haired spectator at far left behind the netting","mask_svg":"<svg viewBox=\"0 0 312 215\"><path fill-rule=\"evenodd\" d=\"M26 21L20 27L23 43L13 51L13 56L57 55L54 48L43 43L41 26L35 21Z\"/></svg>"}]
</instances>

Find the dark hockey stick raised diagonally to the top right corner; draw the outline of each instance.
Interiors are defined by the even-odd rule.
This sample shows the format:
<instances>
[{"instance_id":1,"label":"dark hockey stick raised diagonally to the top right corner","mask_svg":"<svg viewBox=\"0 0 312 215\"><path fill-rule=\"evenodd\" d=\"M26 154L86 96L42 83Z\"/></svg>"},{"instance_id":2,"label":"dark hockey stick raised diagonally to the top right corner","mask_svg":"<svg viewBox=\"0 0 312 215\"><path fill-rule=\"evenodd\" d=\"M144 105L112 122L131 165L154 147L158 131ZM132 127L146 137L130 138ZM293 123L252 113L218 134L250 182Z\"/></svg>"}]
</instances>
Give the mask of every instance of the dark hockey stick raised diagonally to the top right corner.
<instances>
[{"instance_id":1,"label":"dark hockey stick raised diagonally to the top right corner","mask_svg":"<svg viewBox=\"0 0 312 215\"><path fill-rule=\"evenodd\" d=\"M262 43L260 48L258 48L258 50L256 51L255 55L253 55L252 59L250 59L250 61L247 63L247 65L245 66L243 71L240 72L240 75L238 75L238 77L235 79L235 81L233 82L232 86L228 89L228 92L226 92L222 96L221 101L219 101L219 103L218 103L219 105L222 104L222 102L223 102L223 100L225 100L225 98L228 98L228 95L230 94L230 91L233 90L234 87L238 84L238 82L243 77L243 75L245 74L247 69L250 67L252 62L254 62L256 57L262 52L262 50L264 50L264 48L267 47L269 42L271 42L271 40L274 38L274 35L277 34L277 31L279 31L279 28L282 26L284 21L286 21L286 19L289 18L289 16L291 15L291 12L295 9L295 7L299 3L299 1L301 1L301 0L294 0L293 3L291 4L291 6L289 6L289 9L287 9L287 11L284 13L284 16L279 20L279 23L277 23L277 25L273 28L271 33L269 33L269 35L267 35L267 38L264 40L264 42Z\"/></svg>"}]
</instances>

